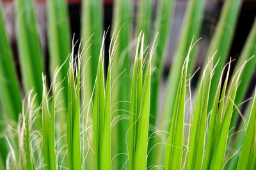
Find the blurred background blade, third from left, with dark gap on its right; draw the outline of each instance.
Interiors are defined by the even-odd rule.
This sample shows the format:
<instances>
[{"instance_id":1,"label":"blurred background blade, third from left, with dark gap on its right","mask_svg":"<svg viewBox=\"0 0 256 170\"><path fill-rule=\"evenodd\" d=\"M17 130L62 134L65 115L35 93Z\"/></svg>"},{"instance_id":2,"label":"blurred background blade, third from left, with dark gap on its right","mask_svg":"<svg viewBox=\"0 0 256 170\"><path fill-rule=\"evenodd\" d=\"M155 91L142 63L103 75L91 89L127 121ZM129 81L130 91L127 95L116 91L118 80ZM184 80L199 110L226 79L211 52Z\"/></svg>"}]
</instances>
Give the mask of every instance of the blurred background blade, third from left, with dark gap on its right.
<instances>
[{"instance_id":1,"label":"blurred background blade, third from left, with dark gap on its right","mask_svg":"<svg viewBox=\"0 0 256 170\"><path fill-rule=\"evenodd\" d=\"M61 86L64 89L61 90L58 100L61 101L60 107L67 108L68 62L65 61L71 45L67 3L65 0L50 0L47 2L47 9L51 78L53 79L55 69L61 66L57 81L63 81Z\"/></svg>"}]
</instances>

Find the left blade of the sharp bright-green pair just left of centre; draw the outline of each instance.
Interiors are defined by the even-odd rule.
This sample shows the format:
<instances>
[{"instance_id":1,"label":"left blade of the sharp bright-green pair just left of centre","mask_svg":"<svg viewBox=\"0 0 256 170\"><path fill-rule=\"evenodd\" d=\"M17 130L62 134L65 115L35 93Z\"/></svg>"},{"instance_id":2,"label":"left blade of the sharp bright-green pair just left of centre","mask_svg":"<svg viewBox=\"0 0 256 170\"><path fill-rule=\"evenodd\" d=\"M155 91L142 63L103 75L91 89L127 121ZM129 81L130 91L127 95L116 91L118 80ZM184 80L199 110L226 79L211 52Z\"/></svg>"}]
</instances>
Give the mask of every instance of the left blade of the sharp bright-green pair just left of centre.
<instances>
[{"instance_id":1,"label":"left blade of the sharp bright-green pair just left of centre","mask_svg":"<svg viewBox=\"0 0 256 170\"><path fill-rule=\"evenodd\" d=\"M105 87L104 87L104 71L102 53L100 53L94 103L93 103L93 143L95 152L95 169L100 169L100 143L102 143L102 128L104 121L104 106L105 106ZM102 167L103 168L103 167Z\"/></svg>"}]
</instances>

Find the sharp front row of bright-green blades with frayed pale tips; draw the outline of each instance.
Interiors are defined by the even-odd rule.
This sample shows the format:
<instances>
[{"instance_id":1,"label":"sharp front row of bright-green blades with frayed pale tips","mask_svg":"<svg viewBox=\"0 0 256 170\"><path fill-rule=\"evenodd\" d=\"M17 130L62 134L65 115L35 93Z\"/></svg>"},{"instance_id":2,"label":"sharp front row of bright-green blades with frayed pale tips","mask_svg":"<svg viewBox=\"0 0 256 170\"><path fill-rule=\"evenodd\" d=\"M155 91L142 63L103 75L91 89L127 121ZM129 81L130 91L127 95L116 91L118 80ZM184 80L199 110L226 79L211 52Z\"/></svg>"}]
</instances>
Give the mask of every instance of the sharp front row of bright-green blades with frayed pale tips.
<instances>
[{"instance_id":1,"label":"sharp front row of bright-green blades with frayed pale tips","mask_svg":"<svg viewBox=\"0 0 256 170\"><path fill-rule=\"evenodd\" d=\"M127 120L129 121L129 129L126 132L128 152L123 153L127 154L127 159L123 166L129 169L149 168L147 167L148 154L150 154L155 145L148 148L148 140L150 138L161 139L160 131L151 132L151 136L148 136L150 103L152 102L150 101L151 57L155 46L152 46L146 64L143 61L145 52L143 44L144 34L140 34L133 64L131 100L129 101L130 111L128 111L130 117ZM218 63L213 65L215 56L211 57L204 68L200 88L198 94L196 94L196 101L192 101L191 96L187 98L191 80L191 77L188 77L188 62L194 45L191 44L189 47L188 55L180 73L170 131L166 132L168 138L166 141L164 141L166 138L162 138L162 142L156 144L164 145L165 152L162 153L164 164L156 164L150 166L151 168L225 169L228 160L232 159L233 155L227 157L228 138L236 136L237 132L230 134L230 124L232 113L237 109L234 101L246 62L234 74L231 86L228 89L232 62L230 59L227 64L225 81L221 87L222 76L225 73L224 68L215 92L214 103L211 111L208 112L211 77ZM111 92L115 88L115 81L111 83L111 67L113 66L113 56L115 56L115 46L116 44L113 43L113 47L109 47L109 55L111 57L109 58L108 73L105 80L103 66L104 41L102 43L94 90L89 103L81 102L80 97L81 89L83 88L83 83L80 82L80 77L82 76L81 60L83 60L83 57L81 55L74 57L77 60L73 60L73 57L70 58L68 106L64 108L67 111L67 120L65 122L67 131L63 132L63 136L60 138L56 135L58 129L56 129L55 117L58 112L63 113L63 111L56 110L58 108L56 101L58 101L62 83L62 81L57 82L57 76L62 68L56 69L50 91L47 90L45 76L43 76L42 105L39 108L36 107L33 92L29 93L28 99L24 101L24 108L17 127L19 134L17 141L20 142L19 148L16 150L15 143L10 143L10 139L7 138L10 146L10 153L6 159L7 169L16 169L17 167L21 167L21 169L84 169L87 167L86 164L90 164L90 167L94 169L113 169L115 167L112 162L115 157L120 155L111 156L113 127L120 121L120 118L112 117L115 110L112 110L114 105L111 104ZM205 74L209 74L210 78L208 80L205 79ZM92 122L88 117L91 110L90 107L93 107ZM188 107L191 108L191 113L188 114L189 124L186 124L185 117L188 113ZM40 114L42 114L42 130L37 131L34 124ZM84 117L84 115L86 116ZM240 153L237 169L255 166L255 95L253 95L250 118L244 121L245 123L248 121L248 124L246 123L247 126L244 129L246 136L243 140L243 147L236 151ZM83 124L88 124L88 126L84 128ZM93 145L91 145L92 143ZM19 152L17 152L18 150ZM90 150L93 151L92 158L89 158L91 156L88 154ZM93 159L94 161L86 162L86 159Z\"/></svg>"}]
</instances>

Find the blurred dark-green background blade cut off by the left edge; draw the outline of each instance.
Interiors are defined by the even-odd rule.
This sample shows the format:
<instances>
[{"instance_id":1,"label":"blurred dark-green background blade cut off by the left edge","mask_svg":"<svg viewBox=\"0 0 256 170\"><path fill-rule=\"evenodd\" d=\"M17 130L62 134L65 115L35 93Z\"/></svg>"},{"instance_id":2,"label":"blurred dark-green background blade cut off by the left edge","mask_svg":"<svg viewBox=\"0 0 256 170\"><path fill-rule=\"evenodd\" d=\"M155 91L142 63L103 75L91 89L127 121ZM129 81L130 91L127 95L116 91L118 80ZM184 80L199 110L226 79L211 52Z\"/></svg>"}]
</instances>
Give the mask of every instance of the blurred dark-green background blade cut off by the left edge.
<instances>
[{"instance_id":1,"label":"blurred dark-green background blade cut off by the left edge","mask_svg":"<svg viewBox=\"0 0 256 170\"><path fill-rule=\"evenodd\" d=\"M22 109L19 81L14 67L12 48L6 34L5 23L0 3L0 98L4 114L17 121Z\"/></svg>"}]
</instances>

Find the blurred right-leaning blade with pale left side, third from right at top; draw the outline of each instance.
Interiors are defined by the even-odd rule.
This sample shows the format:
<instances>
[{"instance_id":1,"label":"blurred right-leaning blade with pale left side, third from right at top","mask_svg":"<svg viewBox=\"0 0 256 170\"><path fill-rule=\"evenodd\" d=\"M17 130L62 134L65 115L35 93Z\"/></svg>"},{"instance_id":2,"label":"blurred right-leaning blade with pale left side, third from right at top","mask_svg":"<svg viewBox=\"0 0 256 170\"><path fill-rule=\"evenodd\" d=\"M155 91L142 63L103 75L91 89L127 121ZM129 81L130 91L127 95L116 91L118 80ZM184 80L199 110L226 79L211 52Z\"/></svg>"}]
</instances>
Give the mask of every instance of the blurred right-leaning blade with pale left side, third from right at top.
<instances>
[{"instance_id":1,"label":"blurred right-leaning blade with pale left side, third from right at top","mask_svg":"<svg viewBox=\"0 0 256 170\"><path fill-rule=\"evenodd\" d=\"M186 16L182 25L182 31L180 32L179 43L177 51L173 57L173 64L168 76L168 83L166 89L166 95L164 100L163 115L160 120L161 129L164 131L170 128L170 117L173 111L173 104L175 103L175 94L179 83L180 70L182 64L186 58L191 41L197 40L202 24L202 17L204 14L204 0L189 1L188 9L186 10ZM194 42L193 42L194 43ZM188 73L193 62L195 62L195 49L191 51L188 66ZM212 56L212 55L211 55Z\"/></svg>"}]
</instances>

